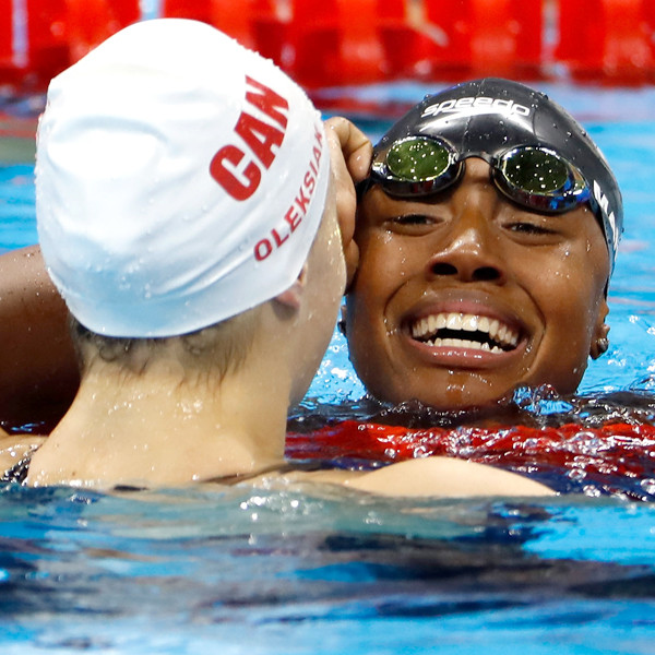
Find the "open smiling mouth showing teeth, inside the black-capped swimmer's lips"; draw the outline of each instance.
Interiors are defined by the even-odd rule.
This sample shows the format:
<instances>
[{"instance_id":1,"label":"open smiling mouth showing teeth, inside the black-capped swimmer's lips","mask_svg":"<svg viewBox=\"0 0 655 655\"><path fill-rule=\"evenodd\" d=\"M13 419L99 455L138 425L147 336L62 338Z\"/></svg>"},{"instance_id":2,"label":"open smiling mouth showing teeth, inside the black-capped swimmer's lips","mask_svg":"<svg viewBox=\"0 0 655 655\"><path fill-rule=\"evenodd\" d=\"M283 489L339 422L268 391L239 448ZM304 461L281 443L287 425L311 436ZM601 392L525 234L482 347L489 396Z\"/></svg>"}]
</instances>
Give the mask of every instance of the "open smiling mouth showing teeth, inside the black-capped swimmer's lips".
<instances>
[{"instance_id":1,"label":"open smiling mouth showing teeth, inside the black-capped swimmer's lips","mask_svg":"<svg viewBox=\"0 0 655 655\"><path fill-rule=\"evenodd\" d=\"M519 343L519 332L498 319L456 312L412 321L409 332L414 340L434 347L507 353Z\"/></svg>"}]
</instances>

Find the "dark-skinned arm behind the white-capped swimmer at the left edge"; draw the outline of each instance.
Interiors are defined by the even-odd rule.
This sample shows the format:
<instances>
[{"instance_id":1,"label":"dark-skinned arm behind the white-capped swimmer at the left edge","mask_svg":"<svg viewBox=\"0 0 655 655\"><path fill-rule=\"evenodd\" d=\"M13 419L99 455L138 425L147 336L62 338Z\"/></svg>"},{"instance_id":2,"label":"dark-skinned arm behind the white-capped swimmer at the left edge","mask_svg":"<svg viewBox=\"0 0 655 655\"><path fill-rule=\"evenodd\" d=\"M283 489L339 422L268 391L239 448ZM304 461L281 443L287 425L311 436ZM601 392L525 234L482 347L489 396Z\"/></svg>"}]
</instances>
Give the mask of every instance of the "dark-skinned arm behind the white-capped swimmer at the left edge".
<instances>
[{"instance_id":1,"label":"dark-skinned arm behind the white-capped swimmer at the left edge","mask_svg":"<svg viewBox=\"0 0 655 655\"><path fill-rule=\"evenodd\" d=\"M68 311L38 247L0 257L0 419L53 422L66 412L79 373Z\"/></svg>"}]
</instances>

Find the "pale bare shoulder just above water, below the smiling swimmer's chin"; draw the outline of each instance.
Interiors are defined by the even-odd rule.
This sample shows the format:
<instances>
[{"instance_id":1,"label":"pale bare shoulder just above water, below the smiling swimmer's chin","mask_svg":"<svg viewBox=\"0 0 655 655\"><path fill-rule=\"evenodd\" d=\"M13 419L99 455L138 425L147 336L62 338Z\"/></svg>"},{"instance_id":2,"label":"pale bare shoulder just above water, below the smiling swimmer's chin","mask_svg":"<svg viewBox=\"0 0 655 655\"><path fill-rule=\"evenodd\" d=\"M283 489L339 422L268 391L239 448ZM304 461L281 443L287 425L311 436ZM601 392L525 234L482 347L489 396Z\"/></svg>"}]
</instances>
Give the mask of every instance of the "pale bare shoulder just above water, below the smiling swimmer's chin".
<instances>
[{"instance_id":1,"label":"pale bare shoulder just above water, below the smiling swimmer's chin","mask_svg":"<svg viewBox=\"0 0 655 655\"><path fill-rule=\"evenodd\" d=\"M395 497L463 498L484 496L552 496L522 475L453 457L407 460L371 472L297 472L289 481L344 485L368 493Z\"/></svg>"}]
</instances>

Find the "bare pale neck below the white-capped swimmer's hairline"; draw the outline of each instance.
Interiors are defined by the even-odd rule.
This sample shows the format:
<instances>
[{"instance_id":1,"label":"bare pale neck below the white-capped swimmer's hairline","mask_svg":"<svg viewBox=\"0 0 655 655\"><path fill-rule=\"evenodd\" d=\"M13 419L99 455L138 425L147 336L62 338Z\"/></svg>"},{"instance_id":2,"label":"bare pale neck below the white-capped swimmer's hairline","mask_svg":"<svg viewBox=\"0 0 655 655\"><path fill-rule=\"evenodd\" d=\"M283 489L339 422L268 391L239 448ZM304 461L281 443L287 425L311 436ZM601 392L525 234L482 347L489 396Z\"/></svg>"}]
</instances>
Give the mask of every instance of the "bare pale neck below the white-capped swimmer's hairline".
<instances>
[{"instance_id":1,"label":"bare pale neck below the white-capped swimmer's hairline","mask_svg":"<svg viewBox=\"0 0 655 655\"><path fill-rule=\"evenodd\" d=\"M139 373L94 362L28 484L172 486L281 464L290 380L271 359L253 353L222 379L174 358Z\"/></svg>"}]
</instances>

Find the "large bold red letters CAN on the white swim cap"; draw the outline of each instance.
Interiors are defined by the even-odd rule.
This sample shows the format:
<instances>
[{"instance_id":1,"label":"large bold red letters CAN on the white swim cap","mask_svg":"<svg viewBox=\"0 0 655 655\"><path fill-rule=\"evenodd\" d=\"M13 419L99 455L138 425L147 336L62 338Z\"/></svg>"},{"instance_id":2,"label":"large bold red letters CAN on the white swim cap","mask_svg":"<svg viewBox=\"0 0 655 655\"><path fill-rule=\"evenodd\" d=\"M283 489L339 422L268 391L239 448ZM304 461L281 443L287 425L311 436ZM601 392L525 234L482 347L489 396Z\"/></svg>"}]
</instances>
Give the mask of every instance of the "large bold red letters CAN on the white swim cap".
<instances>
[{"instance_id":1,"label":"large bold red letters CAN on the white swim cap","mask_svg":"<svg viewBox=\"0 0 655 655\"><path fill-rule=\"evenodd\" d=\"M224 145L210 164L212 177L235 199L248 200L262 179L260 165L270 168L282 145L287 127L289 104L261 82L246 75L246 102L267 119L241 111L235 132L245 147Z\"/></svg>"}]
</instances>

